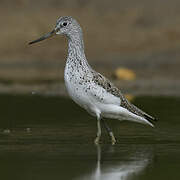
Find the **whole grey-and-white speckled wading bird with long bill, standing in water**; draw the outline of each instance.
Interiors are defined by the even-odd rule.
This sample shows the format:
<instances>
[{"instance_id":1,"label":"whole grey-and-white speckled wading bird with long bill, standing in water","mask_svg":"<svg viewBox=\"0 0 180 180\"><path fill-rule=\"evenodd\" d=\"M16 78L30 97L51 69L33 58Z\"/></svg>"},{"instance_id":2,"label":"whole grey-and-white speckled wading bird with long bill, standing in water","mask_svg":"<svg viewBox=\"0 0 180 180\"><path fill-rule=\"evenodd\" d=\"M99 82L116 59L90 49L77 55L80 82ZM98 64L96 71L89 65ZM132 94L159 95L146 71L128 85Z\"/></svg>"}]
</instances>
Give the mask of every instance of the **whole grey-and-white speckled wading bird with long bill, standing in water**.
<instances>
[{"instance_id":1,"label":"whole grey-and-white speckled wading bird with long bill, standing in water","mask_svg":"<svg viewBox=\"0 0 180 180\"><path fill-rule=\"evenodd\" d=\"M103 118L129 120L153 127L151 121L155 118L131 104L113 83L91 68L84 53L82 29L75 19L70 16L59 18L52 32L29 44L59 34L68 39L68 56L64 71L67 91L78 105L97 118L97 136L94 141L96 144L101 137L101 122L105 125L112 144L116 142L112 130Z\"/></svg>"}]
</instances>

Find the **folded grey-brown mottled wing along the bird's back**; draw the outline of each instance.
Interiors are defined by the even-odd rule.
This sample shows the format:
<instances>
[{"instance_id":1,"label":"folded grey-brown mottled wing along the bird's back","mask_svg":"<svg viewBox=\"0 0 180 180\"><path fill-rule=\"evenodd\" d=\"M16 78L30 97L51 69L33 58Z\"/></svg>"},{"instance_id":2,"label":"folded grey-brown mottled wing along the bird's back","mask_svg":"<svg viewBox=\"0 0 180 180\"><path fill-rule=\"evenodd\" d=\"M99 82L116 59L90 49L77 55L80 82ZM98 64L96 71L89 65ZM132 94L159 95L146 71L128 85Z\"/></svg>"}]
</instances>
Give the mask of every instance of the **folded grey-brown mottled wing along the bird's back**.
<instances>
[{"instance_id":1,"label":"folded grey-brown mottled wing along the bird's back","mask_svg":"<svg viewBox=\"0 0 180 180\"><path fill-rule=\"evenodd\" d=\"M134 106L131 104L121 93L121 91L113 84L111 83L107 78L105 78L103 75L100 73L97 73L95 71L93 73L93 81L98 84L99 86L103 87L107 92L113 94L116 97L119 97L121 100L121 106L128 111L141 116L148 121L156 120L154 117L150 116L149 114L145 113L138 107Z\"/></svg>"}]
</instances>

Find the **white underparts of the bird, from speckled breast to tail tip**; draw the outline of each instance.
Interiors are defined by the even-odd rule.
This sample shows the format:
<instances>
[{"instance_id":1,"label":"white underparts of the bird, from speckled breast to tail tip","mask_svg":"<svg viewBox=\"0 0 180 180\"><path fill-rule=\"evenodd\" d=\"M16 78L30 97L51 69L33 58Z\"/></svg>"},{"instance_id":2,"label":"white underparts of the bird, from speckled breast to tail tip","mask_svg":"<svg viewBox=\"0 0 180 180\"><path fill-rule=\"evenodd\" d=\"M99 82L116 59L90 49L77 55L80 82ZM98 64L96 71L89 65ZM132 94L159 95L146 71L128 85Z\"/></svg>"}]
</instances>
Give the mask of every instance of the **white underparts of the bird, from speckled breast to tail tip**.
<instances>
[{"instance_id":1,"label":"white underparts of the bird, from speckled breast to tail tip","mask_svg":"<svg viewBox=\"0 0 180 180\"><path fill-rule=\"evenodd\" d=\"M101 86L92 81L82 83L79 75L73 79L65 74L65 85L70 97L93 116L148 123L144 118L121 107L120 98L106 92Z\"/></svg>"}]
</instances>

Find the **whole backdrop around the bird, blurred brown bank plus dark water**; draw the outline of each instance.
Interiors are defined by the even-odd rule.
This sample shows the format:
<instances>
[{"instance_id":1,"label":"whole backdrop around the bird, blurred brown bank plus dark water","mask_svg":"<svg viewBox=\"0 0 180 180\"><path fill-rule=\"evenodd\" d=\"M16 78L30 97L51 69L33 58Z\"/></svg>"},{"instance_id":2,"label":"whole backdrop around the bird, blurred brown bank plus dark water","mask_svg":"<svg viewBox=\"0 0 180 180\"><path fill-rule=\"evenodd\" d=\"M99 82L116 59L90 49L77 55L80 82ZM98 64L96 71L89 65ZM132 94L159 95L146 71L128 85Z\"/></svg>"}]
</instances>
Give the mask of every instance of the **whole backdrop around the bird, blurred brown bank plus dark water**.
<instances>
[{"instance_id":1,"label":"whole backdrop around the bird, blurred brown bank plus dark water","mask_svg":"<svg viewBox=\"0 0 180 180\"><path fill-rule=\"evenodd\" d=\"M28 45L60 16L155 128L107 119L117 145L102 129L94 146L96 119L64 98L66 38ZM179 0L0 0L0 22L0 179L180 179Z\"/></svg>"}]
</instances>

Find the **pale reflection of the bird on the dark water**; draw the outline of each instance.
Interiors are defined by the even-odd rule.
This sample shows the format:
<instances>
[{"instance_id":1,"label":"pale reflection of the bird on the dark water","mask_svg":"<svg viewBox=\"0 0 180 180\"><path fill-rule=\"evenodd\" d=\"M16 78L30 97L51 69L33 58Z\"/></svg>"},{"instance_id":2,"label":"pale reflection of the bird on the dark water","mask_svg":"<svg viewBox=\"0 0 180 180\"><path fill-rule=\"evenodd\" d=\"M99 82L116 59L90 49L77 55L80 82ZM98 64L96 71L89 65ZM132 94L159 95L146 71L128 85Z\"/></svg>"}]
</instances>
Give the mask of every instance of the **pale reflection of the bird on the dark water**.
<instances>
[{"instance_id":1,"label":"pale reflection of the bird on the dark water","mask_svg":"<svg viewBox=\"0 0 180 180\"><path fill-rule=\"evenodd\" d=\"M125 157L124 160L109 160L101 157L101 146L97 145L97 163L92 173L84 175L81 180L128 180L134 175L142 172L152 160L151 148L135 148L133 154ZM110 153L115 153L114 147L110 147ZM118 159L120 157L118 156ZM123 159L124 157L122 157ZM113 163L114 162L114 163Z\"/></svg>"}]
</instances>

